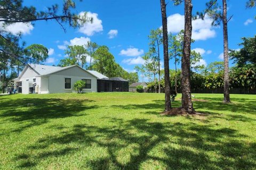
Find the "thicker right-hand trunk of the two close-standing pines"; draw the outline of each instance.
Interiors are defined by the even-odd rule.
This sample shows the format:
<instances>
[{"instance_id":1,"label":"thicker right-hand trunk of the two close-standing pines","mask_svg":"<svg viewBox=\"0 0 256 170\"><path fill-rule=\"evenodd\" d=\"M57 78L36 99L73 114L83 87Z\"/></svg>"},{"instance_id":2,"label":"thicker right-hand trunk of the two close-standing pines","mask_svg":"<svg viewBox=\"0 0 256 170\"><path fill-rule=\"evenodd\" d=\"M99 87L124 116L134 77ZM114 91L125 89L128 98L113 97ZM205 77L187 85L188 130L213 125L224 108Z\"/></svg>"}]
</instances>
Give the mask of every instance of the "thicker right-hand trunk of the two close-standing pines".
<instances>
[{"instance_id":1,"label":"thicker right-hand trunk of the two close-standing pines","mask_svg":"<svg viewBox=\"0 0 256 170\"><path fill-rule=\"evenodd\" d=\"M185 0L185 32L183 39L183 56L181 59L181 90L182 90L182 108L188 113L194 113L193 103L191 101L190 90L190 51L192 35L192 3L191 0Z\"/></svg>"}]
</instances>

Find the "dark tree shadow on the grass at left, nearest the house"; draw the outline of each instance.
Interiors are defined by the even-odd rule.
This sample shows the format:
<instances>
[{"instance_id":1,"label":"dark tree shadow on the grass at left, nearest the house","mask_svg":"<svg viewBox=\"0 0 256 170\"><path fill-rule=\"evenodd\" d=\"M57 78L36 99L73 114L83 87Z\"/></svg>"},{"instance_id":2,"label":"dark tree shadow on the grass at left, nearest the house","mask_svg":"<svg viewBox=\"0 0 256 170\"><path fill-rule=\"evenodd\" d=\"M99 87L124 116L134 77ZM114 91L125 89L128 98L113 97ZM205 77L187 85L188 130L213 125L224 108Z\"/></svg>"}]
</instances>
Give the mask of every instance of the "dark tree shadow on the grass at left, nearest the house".
<instances>
[{"instance_id":1,"label":"dark tree shadow on the grass at left, nearest the house","mask_svg":"<svg viewBox=\"0 0 256 170\"><path fill-rule=\"evenodd\" d=\"M5 121L19 122L19 127L12 132L21 132L32 126L47 123L50 119L82 116L97 105L88 105L94 100L59 98L19 98L1 101L0 118ZM34 104L28 106L27 104ZM83 114L79 113L84 111Z\"/></svg>"}]
</instances>

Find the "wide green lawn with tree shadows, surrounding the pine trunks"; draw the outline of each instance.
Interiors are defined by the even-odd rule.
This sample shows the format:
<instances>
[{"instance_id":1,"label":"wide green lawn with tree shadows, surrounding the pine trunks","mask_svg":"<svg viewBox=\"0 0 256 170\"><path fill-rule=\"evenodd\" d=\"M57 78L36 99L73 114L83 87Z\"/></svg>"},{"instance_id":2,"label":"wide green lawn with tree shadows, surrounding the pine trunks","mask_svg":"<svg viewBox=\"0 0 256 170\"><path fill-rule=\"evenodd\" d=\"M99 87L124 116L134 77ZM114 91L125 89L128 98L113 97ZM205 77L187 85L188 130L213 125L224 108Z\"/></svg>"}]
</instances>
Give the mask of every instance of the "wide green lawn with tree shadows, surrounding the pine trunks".
<instances>
[{"instance_id":1,"label":"wide green lawn with tree shadows, surrounding the pine trunks","mask_svg":"<svg viewBox=\"0 0 256 170\"><path fill-rule=\"evenodd\" d=\"M256 169L256 96L194 99L207 114L160 116L164 94L0 96L0 169Z\"/></svg>"}]
</instances>

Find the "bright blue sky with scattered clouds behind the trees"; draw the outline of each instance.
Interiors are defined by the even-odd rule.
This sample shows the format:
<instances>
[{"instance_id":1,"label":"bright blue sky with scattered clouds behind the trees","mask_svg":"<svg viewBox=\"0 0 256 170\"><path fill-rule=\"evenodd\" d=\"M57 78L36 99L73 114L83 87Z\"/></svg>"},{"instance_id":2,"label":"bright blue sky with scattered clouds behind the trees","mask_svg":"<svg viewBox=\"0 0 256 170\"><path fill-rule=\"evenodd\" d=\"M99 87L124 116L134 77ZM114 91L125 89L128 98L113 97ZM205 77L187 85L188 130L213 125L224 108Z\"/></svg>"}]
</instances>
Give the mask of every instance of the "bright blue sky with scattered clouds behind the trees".
<instances>
[{"instance_id":1,"label":"bright blue sky with scattered clouds behind the trees","mask_svg":"<svg viewBox=\"0 0 256 170\"><path fill-rule=\"evenodd\" d=\"M26 5L33 5L38 10L44 10L50 4L62 4L63 1L25 0ZM183 28L183 4L167 5L168 29L174 34ZM193 1L193 13L202 11L206 1ZM222 1L220 1L222 2ZM228 1L228 16L234 14L228 23L229 48L237 49L241 37L255 35L256 15L254 9L246 9L244 1ZM65 57L63 48L66 45L94 41L99 45L106 45L115 56L116 61L127 71L133 71L135 65L142 64L141 56L148 50L148 35L151 29L161 27L161 11L159 1L123 1L98 0L82 2L76 1L77 13L89 12L94 18L93 24L87 24L79 29L69 28L65 33L60 25L54 21L37 21L34 26L15 25L13 32L23 32L22 40L27 45L42 44L50 50L47 65L57 65ZM61 6L61 5L60 5ZM110 31L112 30L112 31ZM110 34L108 34L110 31ZM196 40L192 49L196 49L203 56L201 63L209 64L221 61L223 51L222 26L211 27L211 20L193 21L193 38ZM161 49L162 52L162 49ZM163 54L161 53L161 58ZM163 59L161 59L163 61ZM174 68L173 61L170 62Z\"/></svg>"}]
</instances>

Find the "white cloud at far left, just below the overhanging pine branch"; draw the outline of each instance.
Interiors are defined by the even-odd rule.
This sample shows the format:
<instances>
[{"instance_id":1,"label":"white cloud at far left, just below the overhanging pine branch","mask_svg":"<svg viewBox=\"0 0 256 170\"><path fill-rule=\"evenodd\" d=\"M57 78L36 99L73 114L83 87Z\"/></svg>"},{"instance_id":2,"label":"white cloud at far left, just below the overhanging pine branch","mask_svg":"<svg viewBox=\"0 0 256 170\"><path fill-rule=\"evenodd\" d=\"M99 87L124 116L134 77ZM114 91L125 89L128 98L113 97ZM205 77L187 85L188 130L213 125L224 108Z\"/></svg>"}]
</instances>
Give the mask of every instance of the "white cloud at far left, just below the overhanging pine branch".
<instances>
[{"instance_id":1,"label":"white cloud at far left, just below the overhanging pine branch","mask_svg":"<svg viewBox=\"0 0 256 170\"><path fill-rule=\"evenodd\" d=\"M3 26L4 22L0 22L0 27L2 27L5 31L11 32L13 35L18 35L21 33L22 35L30 34L31 31L34 29L33 25L29 23L13 23L10 25Z\"/></svg>"}]
</instances>

